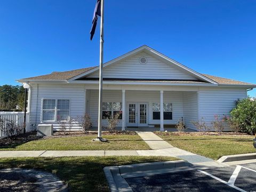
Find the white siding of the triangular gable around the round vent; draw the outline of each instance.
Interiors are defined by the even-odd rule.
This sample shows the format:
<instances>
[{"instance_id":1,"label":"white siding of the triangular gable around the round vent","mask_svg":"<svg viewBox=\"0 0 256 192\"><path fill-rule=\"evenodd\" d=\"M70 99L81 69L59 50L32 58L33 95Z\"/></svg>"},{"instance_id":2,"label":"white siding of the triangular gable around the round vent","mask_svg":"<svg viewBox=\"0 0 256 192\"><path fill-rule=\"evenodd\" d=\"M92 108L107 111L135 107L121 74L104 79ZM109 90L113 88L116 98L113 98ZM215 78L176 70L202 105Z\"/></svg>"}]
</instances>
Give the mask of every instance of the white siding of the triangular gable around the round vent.
<instances>
[{"instance_id":1,"label":"white siding of the triangular gable around the round vent","mask_svg":"<svg viewBox=\"0 0 256 192\"><path fill-rule=\"evenodd\" d=\"M141 64L139 59L145 56L146 64ZM87 76L98 77L99 71ZM139 53L124 61L107 66L103 69L104 78L144 78L144 79L196 79L187 71L174 65L169 65L147 53Z\"/></svg>"}]
</instances>

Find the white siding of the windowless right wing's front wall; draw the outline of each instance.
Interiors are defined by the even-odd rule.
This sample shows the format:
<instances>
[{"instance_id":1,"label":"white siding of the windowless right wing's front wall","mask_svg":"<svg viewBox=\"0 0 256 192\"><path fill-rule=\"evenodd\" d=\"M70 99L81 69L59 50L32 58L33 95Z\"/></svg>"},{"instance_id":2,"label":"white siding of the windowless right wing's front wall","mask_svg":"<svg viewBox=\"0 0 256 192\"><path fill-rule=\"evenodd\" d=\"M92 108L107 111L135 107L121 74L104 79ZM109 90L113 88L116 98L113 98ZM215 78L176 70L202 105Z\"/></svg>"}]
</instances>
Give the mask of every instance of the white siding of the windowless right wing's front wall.
<instances>
[{"instance_id":1,"label":"white siding of the windowless right wing's front wall","mask_svg":"<svg viewBox=\"0 0 256 192\"><path fill-rule=\"evenodd\" d=\"M211 126L214 115L230 115L230 110L235 107L235 100L246 97L247 91L244 88L200 87L199 116L204 117L205 122Z\"/></svg>"}]
</instances>

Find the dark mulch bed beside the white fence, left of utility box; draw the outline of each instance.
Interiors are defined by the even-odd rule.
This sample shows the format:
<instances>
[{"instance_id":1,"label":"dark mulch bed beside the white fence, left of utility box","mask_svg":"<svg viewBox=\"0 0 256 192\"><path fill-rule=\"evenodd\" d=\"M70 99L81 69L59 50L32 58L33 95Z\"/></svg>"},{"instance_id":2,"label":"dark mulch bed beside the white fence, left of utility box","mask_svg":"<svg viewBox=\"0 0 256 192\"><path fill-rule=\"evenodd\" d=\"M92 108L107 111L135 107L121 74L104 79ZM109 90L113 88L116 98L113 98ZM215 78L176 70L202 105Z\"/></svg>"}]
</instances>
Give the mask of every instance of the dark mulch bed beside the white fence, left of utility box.
<instances>
[{"instance_id":1,"label":"dark mulch bed beside the white fence, left of utility box","mask_svg":"<svg viewBox=\"0 0 256 192\"><path fill-rule=\"evenodd\" d=\"M28 132L18 135L17 139L15 140L10 137L0 139L0 147L14 147L17 145L21 145L22 143L26 143L40 138L42 137L38 137L36 135L36 132Z\"/></svg>"}]
</instances>

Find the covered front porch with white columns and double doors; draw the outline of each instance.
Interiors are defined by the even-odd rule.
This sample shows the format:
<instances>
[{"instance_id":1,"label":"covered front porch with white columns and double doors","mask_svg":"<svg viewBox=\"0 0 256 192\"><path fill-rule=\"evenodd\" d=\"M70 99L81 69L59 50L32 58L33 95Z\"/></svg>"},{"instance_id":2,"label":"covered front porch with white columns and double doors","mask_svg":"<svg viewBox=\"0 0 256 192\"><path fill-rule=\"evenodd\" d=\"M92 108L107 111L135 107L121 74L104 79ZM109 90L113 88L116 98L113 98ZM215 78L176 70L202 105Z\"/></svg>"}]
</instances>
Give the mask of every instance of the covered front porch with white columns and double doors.
<instances>
[{"instance_id":1,"label":"covered front porch with white columns and double doors","mask_svg":"<svg viewBox=\"0 0 256 192\"><path fill-rule=\"evenodd\" d=\"M95 131L98 125L98 93L94 89L85 90L85 111L90 114L92 130ZM199 115L198 91L104 89L102 126L107 125L106 114L113 116L117 111L122 111L117 130L175 131L174 125L182 120L191 131L195 130L191 121L197 121Z\"/></svg>"}]
</instances>

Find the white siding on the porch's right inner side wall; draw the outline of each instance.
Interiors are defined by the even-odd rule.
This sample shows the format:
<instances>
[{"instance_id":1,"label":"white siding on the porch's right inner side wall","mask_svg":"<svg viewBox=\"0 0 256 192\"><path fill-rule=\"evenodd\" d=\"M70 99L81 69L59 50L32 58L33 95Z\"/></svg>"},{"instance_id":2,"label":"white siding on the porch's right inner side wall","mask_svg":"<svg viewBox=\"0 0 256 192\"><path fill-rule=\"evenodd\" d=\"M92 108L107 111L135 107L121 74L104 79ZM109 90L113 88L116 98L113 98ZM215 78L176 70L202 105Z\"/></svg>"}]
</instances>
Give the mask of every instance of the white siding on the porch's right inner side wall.
<instances>
[{"instance_id":1,"label":"white siding on the porch's right inner side wall","mask_svg":"<svg viewBox=\"0 0 256 192\"><path fill-rule=\"evenodd\" d=\"M191 121L198 121L197 92L183 92L183 121L188 129L196 130Z\"/></svg>"}]
</instances>

